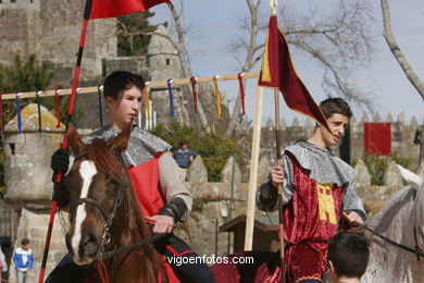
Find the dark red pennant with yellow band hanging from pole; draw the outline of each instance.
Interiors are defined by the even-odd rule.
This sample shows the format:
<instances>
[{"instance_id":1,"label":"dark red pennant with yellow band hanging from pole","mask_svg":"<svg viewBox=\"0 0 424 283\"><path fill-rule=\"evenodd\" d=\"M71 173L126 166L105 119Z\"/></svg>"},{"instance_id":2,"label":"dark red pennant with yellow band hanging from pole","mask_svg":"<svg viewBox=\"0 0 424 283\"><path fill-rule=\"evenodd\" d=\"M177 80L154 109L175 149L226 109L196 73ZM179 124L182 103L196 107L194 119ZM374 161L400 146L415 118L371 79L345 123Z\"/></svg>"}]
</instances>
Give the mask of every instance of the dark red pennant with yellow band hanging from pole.
<instances>
[{"instance_id":1,"label":"dark red pennant with yellow band hanging from pole","mask_svg":"<svg viewBox=\"0 0 424 283\"><path fill-rule=\"evenodd\" d=\"M276 15L270 17L259 85L279 89L290 109L312 118L329 131L323 112L295 71L286 39L278 28Z\"/></svg>"}]
</instances>

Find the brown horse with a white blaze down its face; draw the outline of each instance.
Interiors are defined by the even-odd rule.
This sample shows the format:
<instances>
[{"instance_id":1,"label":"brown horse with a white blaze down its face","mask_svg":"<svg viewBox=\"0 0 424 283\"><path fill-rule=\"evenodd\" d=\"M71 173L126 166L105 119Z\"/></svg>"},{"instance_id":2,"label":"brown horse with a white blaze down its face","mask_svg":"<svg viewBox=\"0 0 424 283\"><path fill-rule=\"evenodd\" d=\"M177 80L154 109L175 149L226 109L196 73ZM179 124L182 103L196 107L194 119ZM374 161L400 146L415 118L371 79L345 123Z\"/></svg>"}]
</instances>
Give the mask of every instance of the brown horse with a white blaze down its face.
<instances>
[{"instance_id":1,"label":"brown horse with a white blaze down its face","mask_svg":"<svg viewBox=\"0 0 424 283\"><path fill-rule=\"evenodd\" d=\"M111 140L86 145L70 125L66 137L75 161L64 183L71 195L66 246L77 264L98 263L91 282L169 282L150 243L125 248L149 238L121 158L129 134L128 127Z\"/></svg>"}]
</instances>

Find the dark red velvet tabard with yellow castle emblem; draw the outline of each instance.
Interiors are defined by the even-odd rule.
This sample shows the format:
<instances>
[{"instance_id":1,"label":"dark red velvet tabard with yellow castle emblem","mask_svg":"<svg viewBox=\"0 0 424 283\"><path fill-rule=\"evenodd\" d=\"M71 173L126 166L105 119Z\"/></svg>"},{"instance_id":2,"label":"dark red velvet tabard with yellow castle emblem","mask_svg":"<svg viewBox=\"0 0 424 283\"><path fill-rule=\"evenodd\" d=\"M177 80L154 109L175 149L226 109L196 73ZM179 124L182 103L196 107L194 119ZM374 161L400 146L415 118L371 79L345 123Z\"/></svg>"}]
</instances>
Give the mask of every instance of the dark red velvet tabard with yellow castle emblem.
<instances>
[{"instance_id":1,"label":"dark red velvet tabard with yellow castle emblem","mask_svg":"<svg viewBox=\"0 0 424 283\"><path fill-rule=\"evenodd\" d=\"M286 152L287 153L287 152ZM294 170L292 199L284 208L287 282L320 280L325 271L328 241L341 217L342 190L336 184L319 184L287 153Z\"/></svg>"}]
</instances>

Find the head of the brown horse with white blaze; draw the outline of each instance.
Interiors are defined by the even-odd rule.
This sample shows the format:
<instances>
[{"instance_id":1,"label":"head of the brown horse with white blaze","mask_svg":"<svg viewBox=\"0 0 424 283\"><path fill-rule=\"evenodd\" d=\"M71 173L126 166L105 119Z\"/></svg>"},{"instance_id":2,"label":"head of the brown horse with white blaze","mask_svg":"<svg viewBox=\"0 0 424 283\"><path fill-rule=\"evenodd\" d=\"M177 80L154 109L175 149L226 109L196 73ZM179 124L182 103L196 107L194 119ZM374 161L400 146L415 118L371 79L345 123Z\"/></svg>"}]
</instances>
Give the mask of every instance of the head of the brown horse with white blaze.
<instances>
[{"instance_id":1,"label":"head of the brown horse with white blaze","mask_svg":"<svg viewBox=\"0 0 424 283\"><path fill-rule=\"evenodd\" d=\"M128 127L111 140L93 139L86 145L75 127L68 126L66 138L75 161L64 184L71 194L66 246L77 264L95 261L108 244L113 244L108 226L116 220L128 187L121 153L126 149L129 133Z\"/></svg>"}]
</instances>

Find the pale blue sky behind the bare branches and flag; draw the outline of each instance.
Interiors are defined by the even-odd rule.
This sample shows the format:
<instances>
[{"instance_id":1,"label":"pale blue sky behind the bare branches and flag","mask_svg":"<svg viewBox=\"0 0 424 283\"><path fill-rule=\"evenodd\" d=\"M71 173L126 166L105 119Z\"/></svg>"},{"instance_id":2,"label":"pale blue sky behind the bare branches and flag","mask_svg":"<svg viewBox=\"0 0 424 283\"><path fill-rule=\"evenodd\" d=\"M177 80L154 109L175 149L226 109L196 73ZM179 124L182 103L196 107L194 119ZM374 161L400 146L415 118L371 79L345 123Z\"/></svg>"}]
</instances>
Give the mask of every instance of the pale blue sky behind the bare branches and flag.
<instances>
[{"instance_id":1,"label":"pale blue sky behind the bare branches and flag","mask_svg":"<svg viewBox=\"0 0 424 283\"><path fill-rule=\"evenodd\" d=\"M336 0L286 0L296 10L308 9L310 4L320 4L326 9ZM179 1L173 1L179 7ZM266 2L266 0L264 1ZM283 3L283 1L279 1ZM406 77L395 57L390 52L383 37L383 21L379 1L373 1L375 17L374 28L376 32L375 49L373 60L369 67L358 70L354 83L366 91L371 91L375 97L376 112L386 119L388 113L397 120L401 112L406 114L406 122L410 123L414 115L420 124L424 121L423 99ZM264 3L263 11L267 17L267 3ZM164 4L150 10L155 15L151 17L151 24L163 22L173 23L171 12ZM408 59L414 72L424 82L424 1L410 0L390 1L391 25L395 38L401 51ZM238 73L239 64L233 53L228 51L229 42L241 36L237 21L248 14L247 4L244 0L184 0L183 25L188 28L186 36L190 65L196 76L210 76L216 74ZM267 20L266 20L267 21ZM292 47L289 47L290 50ZM297 73L310 90L315 101L325 98L322 88L323 71L316 63L302 56L301 52L291 50L292 61ZM260 64L252 70L260 71ZM226 91L230 100L237 96L238 83L236 81L221 82L220 90ZM249 79L246 86L247 115L253 119L254 112L254 79ZM269 118L274 118L274 96L272 91L264 91L264 106L262 124ZM363 109L353 109L357 120L363 115ZM294 118L304 122L305 118L289 110L283 102L280 103L280 116L288 124ZM367 116L371 116L367 113Z\"/></svg>"}]
</instances>

